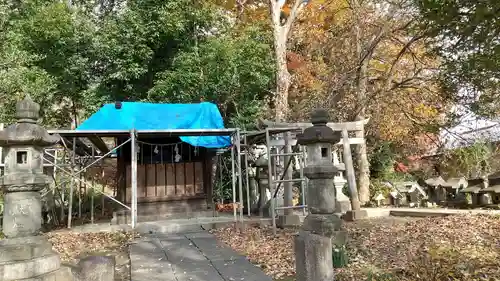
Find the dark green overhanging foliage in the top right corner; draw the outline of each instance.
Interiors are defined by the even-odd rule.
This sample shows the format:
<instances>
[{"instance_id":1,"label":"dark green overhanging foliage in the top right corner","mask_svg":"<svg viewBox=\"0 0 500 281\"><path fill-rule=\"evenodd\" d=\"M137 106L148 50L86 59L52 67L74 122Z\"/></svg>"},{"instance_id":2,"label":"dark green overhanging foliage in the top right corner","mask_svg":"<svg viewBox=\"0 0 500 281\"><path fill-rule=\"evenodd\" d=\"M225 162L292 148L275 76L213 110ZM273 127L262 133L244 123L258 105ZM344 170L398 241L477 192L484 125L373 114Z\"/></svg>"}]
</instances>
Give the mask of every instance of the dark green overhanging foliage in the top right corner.
<instances>
[{"instance_id":1,"label":"dark green overhanging foliage in the top right corner","mask_svg":"<svg viewBox=\"0 0 500 281\"><path fill-rule=\"evenodd\" d=\"M481 115L497 115L500 23L497 0L415 0L422 28L443 58L443 89ZM462 90L465 95L456 95Z\"/></svg>"}]
</instances>

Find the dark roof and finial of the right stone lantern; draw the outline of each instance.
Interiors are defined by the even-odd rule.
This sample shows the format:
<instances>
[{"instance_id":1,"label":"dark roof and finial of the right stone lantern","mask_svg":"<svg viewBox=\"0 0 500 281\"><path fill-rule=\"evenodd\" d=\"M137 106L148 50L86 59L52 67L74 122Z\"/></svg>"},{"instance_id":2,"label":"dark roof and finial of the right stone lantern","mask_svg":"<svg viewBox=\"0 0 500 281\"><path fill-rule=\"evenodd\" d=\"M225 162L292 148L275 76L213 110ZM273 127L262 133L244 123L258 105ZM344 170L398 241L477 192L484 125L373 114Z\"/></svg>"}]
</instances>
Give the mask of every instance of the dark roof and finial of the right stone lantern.
<instances>
[{"instance_id":1,"label":"dark roof and finial of the right stone lantern","mask_svg":"<svg viewBox=\"0 0 500 281\"><path fill-rule=\"evenodd\" d=\"M341 133L333 131L326 124L328 123L328 112L324 109L316 109L311 113L312 127L304 130L304 133L297 135L297 143L308 145L314 143L336 144L341 139Z\"/></svg>"}]
</instances>

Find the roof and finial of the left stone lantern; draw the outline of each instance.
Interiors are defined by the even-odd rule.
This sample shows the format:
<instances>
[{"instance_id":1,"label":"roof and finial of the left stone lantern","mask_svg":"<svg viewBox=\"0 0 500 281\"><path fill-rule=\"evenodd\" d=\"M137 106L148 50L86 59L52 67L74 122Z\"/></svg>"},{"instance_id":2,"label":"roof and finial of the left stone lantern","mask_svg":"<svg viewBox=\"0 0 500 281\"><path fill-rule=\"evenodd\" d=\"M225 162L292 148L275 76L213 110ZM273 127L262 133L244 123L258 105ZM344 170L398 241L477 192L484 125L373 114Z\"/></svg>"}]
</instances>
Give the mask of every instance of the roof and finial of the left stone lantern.
<instances>
[{"instance_id":1,"label":"roof and finial of the left stone lantern","mask_svg":"<svg viewBox=\"0 0 500 281\"><path fill-rule=\"evenodd\" d=\"M33 145L52 146L59 142L59 136L50 135L37 124L40 105L27 95L16 105L17 122L0 131L0 146Z\"/></svg>"}]
</instances>

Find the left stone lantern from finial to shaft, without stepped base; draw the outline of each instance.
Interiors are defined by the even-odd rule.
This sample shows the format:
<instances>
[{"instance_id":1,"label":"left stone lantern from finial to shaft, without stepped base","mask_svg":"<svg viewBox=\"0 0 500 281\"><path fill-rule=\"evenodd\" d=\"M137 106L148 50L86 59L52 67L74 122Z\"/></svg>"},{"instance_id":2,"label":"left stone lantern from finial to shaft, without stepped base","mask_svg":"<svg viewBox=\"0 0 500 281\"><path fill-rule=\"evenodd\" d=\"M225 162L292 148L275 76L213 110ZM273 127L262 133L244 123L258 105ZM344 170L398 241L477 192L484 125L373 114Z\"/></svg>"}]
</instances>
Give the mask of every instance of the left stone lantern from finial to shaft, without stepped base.
<instances>
[{"instance_id":1,"label":"left stone lantern from finial to shaft, without stepped base","mask_svg":"<svg viewBox=\"0 0 500 281\"><path fill-rule=\"evenodd\" d=\"M43 151L59 141L37 124L40 106L29 96L16 105L17 122L0 131L5 150L3 233L8 238L37 235L42 224L40 191L51 183L43 173Z\"/></svg>"}]
</instances>

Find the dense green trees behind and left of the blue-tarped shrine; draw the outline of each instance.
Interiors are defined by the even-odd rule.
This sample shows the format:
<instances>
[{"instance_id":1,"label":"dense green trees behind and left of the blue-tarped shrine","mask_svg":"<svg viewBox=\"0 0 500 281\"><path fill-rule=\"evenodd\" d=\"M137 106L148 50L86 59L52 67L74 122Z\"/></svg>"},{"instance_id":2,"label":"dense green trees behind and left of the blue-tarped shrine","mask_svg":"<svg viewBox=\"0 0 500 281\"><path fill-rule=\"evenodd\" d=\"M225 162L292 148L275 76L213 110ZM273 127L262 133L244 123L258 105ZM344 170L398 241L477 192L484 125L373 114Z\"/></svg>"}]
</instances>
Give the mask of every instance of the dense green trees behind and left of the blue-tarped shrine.
<instances>
[{"instance_id":1,"label":"dense green trees behind and left of the blue-tarped shrine","mask_svg":"<svg viewBox=\"0 0 500 281\"><path fill-rule=\"evenodd\" d=\"M15 102L29 93L54 127L115 100L201 98L245 127L274 83L272 45L259 25L232 25L205 1L2 3L0 122L12 122Z\"/></svg>"}]
</instances>

